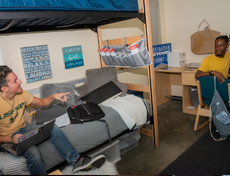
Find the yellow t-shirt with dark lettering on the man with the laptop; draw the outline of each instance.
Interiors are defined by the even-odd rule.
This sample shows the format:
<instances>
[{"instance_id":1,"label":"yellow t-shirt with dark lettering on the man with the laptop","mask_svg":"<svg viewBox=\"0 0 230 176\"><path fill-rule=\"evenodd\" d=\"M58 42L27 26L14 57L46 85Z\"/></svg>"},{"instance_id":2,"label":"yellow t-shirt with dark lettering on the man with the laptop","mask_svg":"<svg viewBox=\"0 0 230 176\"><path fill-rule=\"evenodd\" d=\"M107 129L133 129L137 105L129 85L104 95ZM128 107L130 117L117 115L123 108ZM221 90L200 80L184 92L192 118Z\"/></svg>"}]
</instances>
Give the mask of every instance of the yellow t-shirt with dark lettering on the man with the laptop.
<instances>
[{"instance_id":1,"label":"yellow t-shirt with dark lettering on the man with the laptop","mask_svg":"<svg viewBox=\"0 0 230 176\"><path fill-rule=\"evenodd\" d=\"M12 100L4 100L0 96L0 135L12 135L26 126L23 114L25 106L29 105L33 98L33 95L25 90L16 94Z\"/></svg>"}]
</instances>

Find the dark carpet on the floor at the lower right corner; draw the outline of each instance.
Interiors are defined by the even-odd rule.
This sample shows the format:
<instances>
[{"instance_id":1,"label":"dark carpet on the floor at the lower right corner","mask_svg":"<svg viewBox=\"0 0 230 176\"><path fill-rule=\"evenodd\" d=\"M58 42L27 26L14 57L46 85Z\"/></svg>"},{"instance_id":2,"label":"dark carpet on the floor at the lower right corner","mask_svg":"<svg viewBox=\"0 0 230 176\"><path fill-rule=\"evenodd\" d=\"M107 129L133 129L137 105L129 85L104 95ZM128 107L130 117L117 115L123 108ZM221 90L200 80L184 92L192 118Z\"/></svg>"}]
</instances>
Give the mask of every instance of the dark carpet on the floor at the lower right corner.
<instances>
[{"instance_id":1,"label":"dark carpet on the floor at the lower right corner","mask_svg":"<svg viewBox=\"0 0 230 176\"><path fill-rule=\"evenodd\" d=\"M220 135L213 132L215 138ZM230 141L216 142L209 131L159 175L229 175Z\"/></svg>"}]
</instances>

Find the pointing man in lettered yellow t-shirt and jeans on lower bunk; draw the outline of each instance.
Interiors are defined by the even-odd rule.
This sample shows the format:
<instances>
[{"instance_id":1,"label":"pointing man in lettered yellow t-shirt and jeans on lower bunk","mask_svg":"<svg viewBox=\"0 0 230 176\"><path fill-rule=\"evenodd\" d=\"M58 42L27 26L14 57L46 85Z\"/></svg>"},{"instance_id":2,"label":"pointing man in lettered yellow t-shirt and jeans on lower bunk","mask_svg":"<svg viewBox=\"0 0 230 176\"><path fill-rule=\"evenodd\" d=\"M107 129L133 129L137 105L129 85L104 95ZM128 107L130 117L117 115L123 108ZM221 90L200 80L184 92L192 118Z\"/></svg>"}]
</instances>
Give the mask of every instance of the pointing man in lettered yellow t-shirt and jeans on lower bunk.
<instances>
[{"instance_id":1,"label":"pointing man in lettered yellow t-shirt and jeans on lower bunk","mask_svg":"<svg viewBox=\"0 0 230 176\"><path fill-rule=\"evenodd\" d=\"M49 97L39 99L25 91L21 87L22 81L8 67L0 66L0 143L18 143L18 138L32 127L26 127L23 117L25 106L47 106L54 99L66 102L68 93L56 93ZM34 126L33 126L34 128ZM73 172L88 171L94 167L101 167L105 162L105 156L96 158L80 156L74 149L62 130L54 125L50 136L51 142L70 165ZM0 151L5 151L0 146ZM45 167L36 146L27 149L22 156L26 158L27 166L32 175L47 175ZM13 167L13 166L12 166Z\"/></svg>"}]
</instances>

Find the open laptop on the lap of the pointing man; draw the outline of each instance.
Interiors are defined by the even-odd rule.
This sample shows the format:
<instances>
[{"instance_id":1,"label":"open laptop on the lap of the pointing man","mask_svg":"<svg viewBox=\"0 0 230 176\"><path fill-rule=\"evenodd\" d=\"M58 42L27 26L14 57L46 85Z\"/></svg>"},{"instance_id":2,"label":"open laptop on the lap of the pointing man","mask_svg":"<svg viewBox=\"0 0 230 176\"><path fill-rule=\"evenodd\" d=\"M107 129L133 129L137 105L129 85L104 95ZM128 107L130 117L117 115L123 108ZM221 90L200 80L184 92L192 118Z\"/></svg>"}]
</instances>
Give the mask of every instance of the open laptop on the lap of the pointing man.
<instances>
[{"instance_id":1,"label":"open laptop on the lap of the pointing man","mask_svg":"<svg viewBox=\"0 0 230 176\"><path fill-rule=\"evenodd\" d=\"M48 139L53 130L54 122L55 120L52 120L44 125L27 131L18 139L18 144L4 143L1 147L16 156L20 155L28 148L38 145L42 141Z\"/></svg>"}]
</instances>

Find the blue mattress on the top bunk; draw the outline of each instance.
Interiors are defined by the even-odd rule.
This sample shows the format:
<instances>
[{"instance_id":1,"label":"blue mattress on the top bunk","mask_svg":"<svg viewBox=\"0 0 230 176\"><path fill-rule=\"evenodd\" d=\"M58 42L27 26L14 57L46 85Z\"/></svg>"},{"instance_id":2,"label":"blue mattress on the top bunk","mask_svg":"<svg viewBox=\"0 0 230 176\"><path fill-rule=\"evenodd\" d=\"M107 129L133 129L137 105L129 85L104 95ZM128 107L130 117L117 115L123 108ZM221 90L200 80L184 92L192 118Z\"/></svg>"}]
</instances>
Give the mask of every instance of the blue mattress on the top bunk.
<instances>
[{"instance_id":1,"label":"blue mattress on the top bunk","mask_svg":"<svg viewBox=\"0 0 230 176\"><path fill-rule=\"evenodd\" d=\"M0 10L82 10L137 12L137 0L0 0Z\"/></svg>"}]
</instances>

